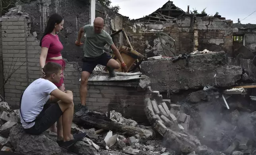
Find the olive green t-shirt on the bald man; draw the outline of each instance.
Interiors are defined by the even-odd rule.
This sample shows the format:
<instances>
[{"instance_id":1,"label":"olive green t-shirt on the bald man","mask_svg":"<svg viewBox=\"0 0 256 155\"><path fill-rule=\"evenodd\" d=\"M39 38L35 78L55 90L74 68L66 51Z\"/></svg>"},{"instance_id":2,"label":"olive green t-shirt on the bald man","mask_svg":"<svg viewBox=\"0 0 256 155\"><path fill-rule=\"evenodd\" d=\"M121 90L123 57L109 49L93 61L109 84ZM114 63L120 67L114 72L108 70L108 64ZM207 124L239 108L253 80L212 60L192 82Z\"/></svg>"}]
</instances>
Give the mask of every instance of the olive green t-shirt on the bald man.
<instances>
[{"instance_id":1,"label":"olive green t-shirt on the bald man","mask_svg":"<svg viewBox=\"0 0 256 155\"><path fill-rule=\"evenodd\" d=\"M102 30L101 33L95 33L92 25L83 26L85 36L85 43L83 47L84 57L99 57L103 54L103 47L112 45L111 36Z\"/></svg>"}]
</instances>

